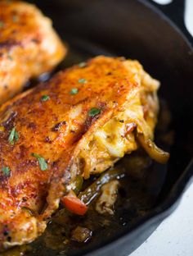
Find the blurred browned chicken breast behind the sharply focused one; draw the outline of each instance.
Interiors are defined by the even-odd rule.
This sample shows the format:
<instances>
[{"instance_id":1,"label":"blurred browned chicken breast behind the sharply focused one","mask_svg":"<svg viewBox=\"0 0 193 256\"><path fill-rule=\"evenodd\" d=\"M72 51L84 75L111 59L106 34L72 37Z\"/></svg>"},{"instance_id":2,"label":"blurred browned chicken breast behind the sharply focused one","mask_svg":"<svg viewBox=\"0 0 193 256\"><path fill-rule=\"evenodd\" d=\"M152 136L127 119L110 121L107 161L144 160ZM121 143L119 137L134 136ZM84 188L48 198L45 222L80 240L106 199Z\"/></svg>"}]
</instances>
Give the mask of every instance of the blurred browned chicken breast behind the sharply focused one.
<instances>
[{"instance_id":1,"label":"blurred browned chicken breast behind the sharply focused one","mask_svg":"<svg viewBox=\"0 0 193 256\"><path fill-rule=\"evenodd\" d=\"M51 71L66 49L52 22L32 4L0 1L0 103L29 78Z\"/></svg>"}]
</instances>

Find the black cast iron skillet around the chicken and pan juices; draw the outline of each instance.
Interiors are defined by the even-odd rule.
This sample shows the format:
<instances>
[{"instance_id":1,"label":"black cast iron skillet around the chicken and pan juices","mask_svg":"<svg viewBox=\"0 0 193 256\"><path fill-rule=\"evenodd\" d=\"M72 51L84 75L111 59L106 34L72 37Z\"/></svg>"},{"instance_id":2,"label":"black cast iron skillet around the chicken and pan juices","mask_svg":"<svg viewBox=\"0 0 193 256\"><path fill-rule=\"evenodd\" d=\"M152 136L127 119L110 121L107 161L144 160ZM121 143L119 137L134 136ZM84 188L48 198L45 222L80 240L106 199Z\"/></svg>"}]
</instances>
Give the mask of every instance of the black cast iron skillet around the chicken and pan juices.
<instances>
[{"instance_id":1,"label":"black cast iron skillet around the chicken and pan juices","mask_svg":"<svg viewBox=\"0 0 193 256\"><path fill-rule=\"evenodd\" d=\"M135 58L162 82L159 97L164 98L172 113L170 129L175 139L167 167L156 167L166 176L160 176L163 181L154 207L135 224L126 225L108 239L104 231L96 244L75 253L128 255L177 208L183 191L192 181L193 40L182 20L184 2L175 0L159 7L160 10L158 5L142 0L32 2L52 18L56 30L70 48L76 49L77 56L80 53L83 58L98 54ZM69 58L65 63L69 66L81 58ZM38 250L38 255L44 255L43 249Z\"/></svg>"}]
</instances>

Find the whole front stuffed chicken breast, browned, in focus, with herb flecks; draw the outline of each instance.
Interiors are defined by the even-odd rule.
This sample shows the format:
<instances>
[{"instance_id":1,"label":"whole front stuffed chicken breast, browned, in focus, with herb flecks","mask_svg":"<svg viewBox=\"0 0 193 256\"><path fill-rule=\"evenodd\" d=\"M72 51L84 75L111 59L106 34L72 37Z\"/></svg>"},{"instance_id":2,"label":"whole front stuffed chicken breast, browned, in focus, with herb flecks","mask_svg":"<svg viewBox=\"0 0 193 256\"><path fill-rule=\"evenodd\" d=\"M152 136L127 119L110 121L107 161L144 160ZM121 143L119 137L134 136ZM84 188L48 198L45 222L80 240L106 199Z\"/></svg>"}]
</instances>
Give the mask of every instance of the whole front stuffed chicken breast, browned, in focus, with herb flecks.
<instances>
[{"instance_id":1,"label":"whole front stuffed chicken breast, browned, in focus, with herb flecks","mask_svg":"<svg viewBox=\"0 0 193 256\"><path fill-rule=\"evenodd\" d=\"M152 139L158 87L138 62L96 57L2 105L1 248L42 234L77 175L113 166L136 134Z\"/></svg>"}]
</instances>

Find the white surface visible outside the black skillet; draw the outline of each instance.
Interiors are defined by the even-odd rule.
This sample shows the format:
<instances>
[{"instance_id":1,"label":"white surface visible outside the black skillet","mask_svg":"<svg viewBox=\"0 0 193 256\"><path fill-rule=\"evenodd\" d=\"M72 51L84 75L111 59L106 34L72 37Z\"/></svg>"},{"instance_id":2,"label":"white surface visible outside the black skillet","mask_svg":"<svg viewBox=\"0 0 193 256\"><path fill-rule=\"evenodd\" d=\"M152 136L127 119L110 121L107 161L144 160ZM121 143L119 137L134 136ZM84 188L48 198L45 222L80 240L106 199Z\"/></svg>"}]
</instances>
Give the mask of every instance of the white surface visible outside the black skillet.
<instances>
[{"instance_id":1,"label":"white surface visible outside the black skillet","mask_svg":"<svg viewBox=\"0 0 193 256\"><path fill-rule=\"evenodd\" d=\"M167 4L172 0L155 2ZM186 0L185 23L193 35L193 0ZM130 256L193 256L193 184L177 210Z\"/></svg>"}]
</instances>

